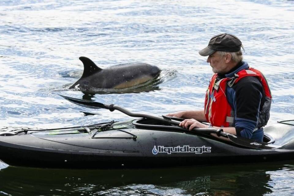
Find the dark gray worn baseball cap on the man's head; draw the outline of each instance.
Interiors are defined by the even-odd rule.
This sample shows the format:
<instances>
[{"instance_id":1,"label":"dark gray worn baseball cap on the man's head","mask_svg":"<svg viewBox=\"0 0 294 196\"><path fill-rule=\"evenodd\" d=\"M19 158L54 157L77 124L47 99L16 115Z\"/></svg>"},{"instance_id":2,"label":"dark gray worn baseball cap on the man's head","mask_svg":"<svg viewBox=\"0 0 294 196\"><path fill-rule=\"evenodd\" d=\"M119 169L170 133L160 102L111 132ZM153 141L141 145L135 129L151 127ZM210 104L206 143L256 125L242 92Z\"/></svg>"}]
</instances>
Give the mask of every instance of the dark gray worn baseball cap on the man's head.
<instances>
[{"instance_id":1,"label":"dark gray worn baseball cap on the man's head","mask_svg":"<svg viewBox=\"0 0 294 196\"><path fill-rule=\"evenodd\" d=\"M201 56L212 55L216 51L225 51L225 52L238 52L241 50L242 42L238 37L222 33L216 36L213 36L208 46L199 51Z\"/></svg>"}]
</instances>

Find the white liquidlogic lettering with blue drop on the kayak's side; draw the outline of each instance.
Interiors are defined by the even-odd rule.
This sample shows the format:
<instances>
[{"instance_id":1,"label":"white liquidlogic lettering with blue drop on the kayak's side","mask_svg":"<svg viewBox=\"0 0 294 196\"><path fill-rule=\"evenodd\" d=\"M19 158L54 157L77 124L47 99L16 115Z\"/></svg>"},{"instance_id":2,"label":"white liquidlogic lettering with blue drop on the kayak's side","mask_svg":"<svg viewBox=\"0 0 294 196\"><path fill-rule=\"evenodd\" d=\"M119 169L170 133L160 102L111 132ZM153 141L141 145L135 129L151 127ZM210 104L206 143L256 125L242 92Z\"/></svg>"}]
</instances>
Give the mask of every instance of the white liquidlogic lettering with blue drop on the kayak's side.
<instances>
[{"instance_id":1,"label":"white liquidlogic lettering with blue drop on the kayak's side","mask_svg":"<svg viewBox=\"0 0 294 196\"><path fill-rule=\"evenodd\" d=\"M190 147L188 145L185 146L177 146L177 147L164 147L164 146L154 146L152 150L153 154L157 153L195 153L195 154L202 154L202 153L211 153L211 147Z\"/></svg>"}]
</instances>

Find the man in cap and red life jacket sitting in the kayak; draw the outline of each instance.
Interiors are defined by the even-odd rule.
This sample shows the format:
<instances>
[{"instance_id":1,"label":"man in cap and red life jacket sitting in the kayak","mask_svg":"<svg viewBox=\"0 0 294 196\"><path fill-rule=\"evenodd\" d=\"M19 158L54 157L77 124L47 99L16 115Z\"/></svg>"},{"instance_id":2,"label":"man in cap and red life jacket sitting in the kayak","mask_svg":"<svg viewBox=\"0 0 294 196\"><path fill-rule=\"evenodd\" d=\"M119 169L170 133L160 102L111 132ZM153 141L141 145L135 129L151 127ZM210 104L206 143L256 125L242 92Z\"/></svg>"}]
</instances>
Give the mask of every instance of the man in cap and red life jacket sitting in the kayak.
<instances>
[{"instance_id":1,"label":"man in cap and red life jacket sitting in the kayak","mask_svg":"<svg viewBox=\"0 0 294 196\"><path fill-rule=\"evenodd\" d=\"M261 72L243 61L243 45L234 35L213 36L207 47L199 51L208 56L213 77L205 96L205 106L199 111L179 111L168 114L184 118L180 126L192 130L220 127L224 132L262 141L263 126L269 120L271 93ZM210 126L200 122L209 122Z\"/></svg>"}]
</instances>

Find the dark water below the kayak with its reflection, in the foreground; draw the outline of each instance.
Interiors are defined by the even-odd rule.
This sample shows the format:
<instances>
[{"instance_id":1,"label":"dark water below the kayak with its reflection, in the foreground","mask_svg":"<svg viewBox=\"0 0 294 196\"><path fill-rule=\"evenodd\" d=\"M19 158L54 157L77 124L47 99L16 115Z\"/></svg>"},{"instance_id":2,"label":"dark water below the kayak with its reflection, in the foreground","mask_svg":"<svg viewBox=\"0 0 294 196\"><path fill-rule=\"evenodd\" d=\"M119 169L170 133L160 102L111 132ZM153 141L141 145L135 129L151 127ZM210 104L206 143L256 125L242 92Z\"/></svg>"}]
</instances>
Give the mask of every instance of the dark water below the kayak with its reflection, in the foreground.
<instances>
[{"instance_id":1,"label":"dark water below the kayak with its reflection, in the foreground","mask_svg":"<svg viewBox=\"0 0 294 196\"><path fill-rule=\"evenodd\" d=\"M286 173L291 175L284 176ZM21 178L19 177L21 176ZM273 183L278 179L279 184ZM8 167L0 190L11 195L275 195L294 182L293 165L223 165L152 170ZM21 193L25 190L25 193Z\"/></svg>"}]
</instances>

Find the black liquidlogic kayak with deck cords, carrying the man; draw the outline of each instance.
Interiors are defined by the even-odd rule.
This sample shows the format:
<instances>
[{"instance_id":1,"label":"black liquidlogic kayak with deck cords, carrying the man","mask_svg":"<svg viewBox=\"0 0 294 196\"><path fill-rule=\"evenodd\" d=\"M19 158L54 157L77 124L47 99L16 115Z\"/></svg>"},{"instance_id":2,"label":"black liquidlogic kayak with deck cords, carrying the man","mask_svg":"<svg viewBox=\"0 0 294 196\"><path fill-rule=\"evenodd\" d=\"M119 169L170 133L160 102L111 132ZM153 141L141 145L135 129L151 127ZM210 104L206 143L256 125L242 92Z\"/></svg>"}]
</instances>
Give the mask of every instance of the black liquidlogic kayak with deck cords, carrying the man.
<instances>
[{"instance_id":1,"label":"black liquidlogic kayak with deck cords, carrying the man","mask_svg":"<svg viewBox=\"0 0 294 196\"><path fill-rule=\"evenodd\" d=\"M241 139L234 143L146 118L51 130L13 130L0 132L0 160L13 166L108 169L294 160L294 120L266 126L264 132L263 142Z\"/></svg>"}]
</instances>

